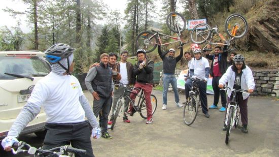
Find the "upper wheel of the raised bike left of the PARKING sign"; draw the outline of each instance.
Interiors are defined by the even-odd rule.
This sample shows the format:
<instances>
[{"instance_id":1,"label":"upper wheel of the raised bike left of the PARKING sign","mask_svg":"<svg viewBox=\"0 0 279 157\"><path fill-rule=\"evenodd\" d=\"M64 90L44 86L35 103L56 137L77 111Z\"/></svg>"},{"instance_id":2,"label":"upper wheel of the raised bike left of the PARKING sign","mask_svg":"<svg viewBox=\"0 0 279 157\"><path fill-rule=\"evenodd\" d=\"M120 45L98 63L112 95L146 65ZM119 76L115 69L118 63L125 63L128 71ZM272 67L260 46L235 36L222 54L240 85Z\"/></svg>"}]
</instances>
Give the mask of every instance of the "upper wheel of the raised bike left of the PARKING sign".
<instances>
[{"instance_id":1,"label":"upper wheel of the raised bike left of the PARKING sign","mask_svg":"<svg viewBox=\"0 0 279 157\"><path fill-rule=\"evenodd\" d=\"M177 12L170 12L166 16L166 24L172 32L182 32L186 28L185 18Z\"/></svg>"}]
</instances>

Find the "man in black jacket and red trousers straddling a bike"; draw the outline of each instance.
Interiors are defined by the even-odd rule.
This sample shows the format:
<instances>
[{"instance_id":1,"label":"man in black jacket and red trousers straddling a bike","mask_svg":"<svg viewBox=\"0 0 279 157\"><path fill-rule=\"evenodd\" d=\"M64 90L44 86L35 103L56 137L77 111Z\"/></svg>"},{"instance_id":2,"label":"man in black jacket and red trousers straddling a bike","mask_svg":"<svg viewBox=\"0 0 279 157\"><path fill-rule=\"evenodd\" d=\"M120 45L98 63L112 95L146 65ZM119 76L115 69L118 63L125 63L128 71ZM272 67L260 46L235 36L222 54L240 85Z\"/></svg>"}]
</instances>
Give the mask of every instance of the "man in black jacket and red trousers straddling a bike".
<instances>
[{"instance_id":1,"label":"man in black jacket and red trousers straddling a bike","mask_svg":"<svg viewBox=\"0 0 279 157\"><path fill-rule=\"evenodd\" d=\"M153 88L154 61L147 58L146 51L144 49L138 49L136 51L136 56L138 61L133 67L133 75L136 77L134 87L144 91L147 110L146 123L150 124L153 122L150 96ZM134 89L136 93L140 92L138 89ZM136 95L131 93L130 98L132 101L135 100L135 97ZM132 116L134 112L133 106L130 104L128 113Z\"/></svg>"}]
</instances>

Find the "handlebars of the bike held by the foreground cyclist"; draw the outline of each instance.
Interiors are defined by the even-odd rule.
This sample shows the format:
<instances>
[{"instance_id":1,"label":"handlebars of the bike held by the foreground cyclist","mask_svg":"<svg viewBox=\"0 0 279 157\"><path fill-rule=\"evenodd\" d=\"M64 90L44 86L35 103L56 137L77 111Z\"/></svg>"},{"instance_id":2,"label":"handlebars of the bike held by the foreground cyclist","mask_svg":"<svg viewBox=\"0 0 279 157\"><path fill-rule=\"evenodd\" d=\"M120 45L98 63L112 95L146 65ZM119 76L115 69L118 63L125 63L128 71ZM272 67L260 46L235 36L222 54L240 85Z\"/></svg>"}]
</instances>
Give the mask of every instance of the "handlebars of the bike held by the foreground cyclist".
<instances>
[{"instance_id":1,"label":"handlebars of the bike held by the foreground cyclist","mask_svg":"<svg viewBox=\"0 0 279 157\"><path fill-rule=\"evenodd\" d=\"M16 150L14 148L12 148L13 154L27 152L28 154L34 155L35 157L36 156L43 157L43 156L49 156L49 155L57 156L57 157L70 157L69 155L63 155L63 154L67 154L67 153L86 154L86 150L73 148L69 145L64 145L64 146L55 147L55 148L52 148L49 150L44 150L41 147L40 148L32 147L31 145L20 141L20 142L18 142L17 146L18 146L18 148Z\"/></svg>"}]
</instances>

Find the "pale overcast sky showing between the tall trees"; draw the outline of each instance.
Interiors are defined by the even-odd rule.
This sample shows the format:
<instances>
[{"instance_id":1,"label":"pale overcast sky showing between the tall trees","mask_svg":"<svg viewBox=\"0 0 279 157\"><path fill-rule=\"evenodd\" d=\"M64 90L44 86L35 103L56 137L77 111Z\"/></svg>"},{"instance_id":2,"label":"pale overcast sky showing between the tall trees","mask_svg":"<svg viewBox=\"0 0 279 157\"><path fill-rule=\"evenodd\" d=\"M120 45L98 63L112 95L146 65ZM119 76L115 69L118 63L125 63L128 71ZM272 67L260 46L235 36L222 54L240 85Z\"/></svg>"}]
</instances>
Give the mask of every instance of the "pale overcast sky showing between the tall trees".
<instances>
[{"instance_id":1,"label":"pale overcast sky showing between the tall trees","mask_svg":"<svg viewBox=\"0 0 279 157\"><path fill-rule=\"evenodd\" d=\"M124 16L124 10L127 6L127 0L102 0L104 3L106 3L111 10L119 10L120 13L122 14L122 17ZM24 33L30 32L30 28L28 27L28 23L25 21L26 20L26 15L17 15L16 18L13 18L12 16L9 15L9 13L4 12L3 9L6 7L14 9L16 11L25 11L27 10L27 6L22 3L21 0L0 0L0 15L1 15L1 20L0 20L0 27L7 25L9 28L12 26L15 26L17 21L21 21L21 29ZM158 1L156 3L156 10L157 12L160 11L161 9L161 3Z\"/></svg>"}]
</instances>

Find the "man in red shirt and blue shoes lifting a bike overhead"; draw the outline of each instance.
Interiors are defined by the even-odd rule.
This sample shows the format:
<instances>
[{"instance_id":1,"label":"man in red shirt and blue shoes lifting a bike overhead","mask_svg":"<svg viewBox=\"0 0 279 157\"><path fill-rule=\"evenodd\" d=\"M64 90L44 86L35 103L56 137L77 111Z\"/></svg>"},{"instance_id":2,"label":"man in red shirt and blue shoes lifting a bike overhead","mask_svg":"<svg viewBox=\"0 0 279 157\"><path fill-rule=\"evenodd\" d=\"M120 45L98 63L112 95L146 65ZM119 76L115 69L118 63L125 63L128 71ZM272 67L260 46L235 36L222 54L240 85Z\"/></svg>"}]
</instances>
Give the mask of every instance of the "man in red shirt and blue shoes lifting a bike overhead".
<instances>
[{"instance_id":1,"label":"man in red shirt and blue shoes lifting a bike overhead","mask_svg":"<svg viewBox=\"0 0 279 157\"><path fill-rule=\"evenodd\" d=\"M221 111L221 112L226 111L227 99L226 99L226 92L224 90L220 91L218 84L219 84L220 78L227 70L227 57L228 57L227 47L228 46L225 45L223 48L223 51L222 51L220 46L216 46L214 48L214 51L215 51L214 55L209 54L210 48L211 48L210 45L208 45L208 47L207 47L209 49L204 49L206 58L212 60L210 75L213 77L212 87L213 87L213 91L214 91L214 102L209 107L209 109L218 109L217 105L219 102L219 96L221 95L222 107L219 109L219 111Z\"/></svg>"}]
</instances>

